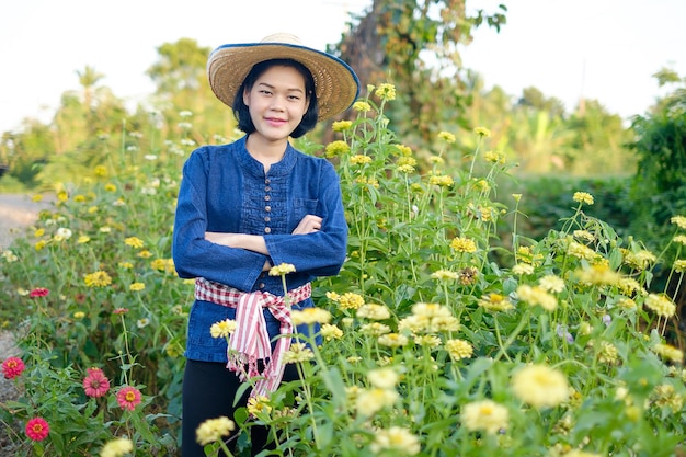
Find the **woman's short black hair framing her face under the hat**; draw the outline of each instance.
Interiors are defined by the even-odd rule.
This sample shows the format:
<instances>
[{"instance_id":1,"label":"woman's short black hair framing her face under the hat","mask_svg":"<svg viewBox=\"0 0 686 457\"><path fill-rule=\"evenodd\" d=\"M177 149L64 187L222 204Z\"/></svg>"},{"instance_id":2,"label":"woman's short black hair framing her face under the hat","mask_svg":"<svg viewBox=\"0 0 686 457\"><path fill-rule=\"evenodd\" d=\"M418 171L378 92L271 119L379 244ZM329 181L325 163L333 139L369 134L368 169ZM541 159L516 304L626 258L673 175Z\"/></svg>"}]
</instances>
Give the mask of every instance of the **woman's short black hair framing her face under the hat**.
<instances>
[{"instance_id":1,"label":"woman's short black hair framing her face under the hat","mask_svg":"<svg viewBox=\"0 0 686 457\"><path fill-rule=\"evenodd\" d=\"M238 92L236 92L232 105L233 115L238 121L238 128L241 132L244 132L248 135L255 132L255 125L252 123L252 118L250 117L250 111L245 103L243 103L243 93L245 91L251 91L258 78L260 78L270 68L276 66L294 68L302 75L302 79L305 80L305 93L309 98L310 103L305 112L305 115L302 116L302 121L300 121L300 124L298 124L296 129L290 134L293 138L299 138L317 125L319 105L317 103L317 92L315 91L315 78L312 78L310 70L297 60L272 59L255 64L243 80L243 83Z\"/></svg>"}]
</instances>

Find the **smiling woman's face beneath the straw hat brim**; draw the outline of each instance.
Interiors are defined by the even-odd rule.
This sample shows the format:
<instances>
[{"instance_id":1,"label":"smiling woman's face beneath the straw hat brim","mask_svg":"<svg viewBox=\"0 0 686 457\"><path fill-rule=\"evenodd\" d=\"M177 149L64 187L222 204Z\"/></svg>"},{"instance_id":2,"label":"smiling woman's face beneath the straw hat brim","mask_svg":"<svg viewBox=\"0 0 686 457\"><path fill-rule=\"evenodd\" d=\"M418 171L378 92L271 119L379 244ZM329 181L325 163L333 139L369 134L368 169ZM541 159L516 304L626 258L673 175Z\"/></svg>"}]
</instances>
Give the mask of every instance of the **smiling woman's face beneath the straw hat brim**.
<instances>
[{"instance_id":1,"label":"smiling woman's face beneath the straw hat brim","mask_svg":"<svg viewBox=\"0 0 686 457\"><path fill-rule=\"evenodd\" d=\"M262 73L250 91L243 93L243 103L259 135L268 140L288 138L307 112L309 98L305 80L295 69L271 67Z\"/></svg>"}]
</instances>

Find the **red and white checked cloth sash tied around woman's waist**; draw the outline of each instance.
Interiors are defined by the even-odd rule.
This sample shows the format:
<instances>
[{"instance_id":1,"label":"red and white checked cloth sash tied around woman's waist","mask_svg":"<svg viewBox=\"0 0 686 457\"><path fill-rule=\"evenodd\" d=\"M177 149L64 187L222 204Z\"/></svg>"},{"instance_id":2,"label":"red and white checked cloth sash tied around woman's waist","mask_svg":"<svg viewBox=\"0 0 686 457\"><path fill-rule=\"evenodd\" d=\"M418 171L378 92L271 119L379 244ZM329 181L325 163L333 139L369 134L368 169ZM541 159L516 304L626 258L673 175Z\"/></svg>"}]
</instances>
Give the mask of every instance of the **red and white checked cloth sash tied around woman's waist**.
<instances>
[{"instance_id":1,"label":"red and white checked cloth sash tied around woman's waist","mask_svg":"<svg viewBox=\"0 0 686 457\"><path fill-rule=\"evenodd\" d=\"M279 338L274 352L262 308L267 308L279 322L279 333L293 333L290 306L298 304L312 294L310 283L288 292L289 302L284 297L266 292L244 293L214 281L198 277L195 279L195 298L217 305L236 308L236 331L229 336L227 368L237 372L242 381L255 380L250 397L268 396L278 388L284 376L283 356L290 349L290 338ZM267 362L268 358L268 362ZM262 361L264 369L258 369ZM245 369L248 368L248 369Z\"/></svg>"}]
</instances>

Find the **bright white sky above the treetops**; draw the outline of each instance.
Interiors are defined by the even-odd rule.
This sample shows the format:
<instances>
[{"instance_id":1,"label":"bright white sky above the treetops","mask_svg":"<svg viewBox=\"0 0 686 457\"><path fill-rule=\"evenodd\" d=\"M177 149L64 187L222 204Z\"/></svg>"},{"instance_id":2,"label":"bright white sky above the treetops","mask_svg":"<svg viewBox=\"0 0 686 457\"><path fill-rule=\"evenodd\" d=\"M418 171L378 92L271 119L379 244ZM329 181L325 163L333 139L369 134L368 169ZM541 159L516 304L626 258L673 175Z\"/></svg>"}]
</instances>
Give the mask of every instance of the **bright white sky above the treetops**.
<instances>
[{"instance_id":1,"label":"bright white sky above the treetops","mask_svg":"<svg viewBox=\"0 0 686 457\"><path fill-rule=\"evenodd\" d=\"M685 0L467 0L467 8L507 5L500 33L482 27L462 64L487 88L517 96L538 88L568 111L580 96L625 118L644 114L665 93L652 77L663 67L686 77ZM49 122L62 92L79 90L77 71L134 105L153 91L145 71L157 48L180 38L215 48L290 32L324 50L340 41L350 13L371 0L23 0L0 4L0 133L23 118ZM380 81L363 81L363 83Z\"/></svg>"}]
</instances>

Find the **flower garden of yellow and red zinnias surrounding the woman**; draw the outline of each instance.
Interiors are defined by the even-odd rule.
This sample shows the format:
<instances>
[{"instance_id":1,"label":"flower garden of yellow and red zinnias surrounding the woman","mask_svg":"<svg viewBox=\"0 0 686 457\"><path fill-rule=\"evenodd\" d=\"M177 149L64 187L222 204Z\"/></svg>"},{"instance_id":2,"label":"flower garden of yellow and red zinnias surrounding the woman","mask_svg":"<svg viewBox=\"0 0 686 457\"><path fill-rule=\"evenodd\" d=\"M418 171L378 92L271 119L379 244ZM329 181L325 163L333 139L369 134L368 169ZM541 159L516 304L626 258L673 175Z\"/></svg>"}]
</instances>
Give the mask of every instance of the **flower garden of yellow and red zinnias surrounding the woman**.
<instances>
[{"instance_id":1,"label":"flower garden of yellow and red zinnias surrounding the woman","mask_svg":"<svg viewBox=\"0 0 686 457\"><path fill-rule=\"evenodd\" d=\"M340 275L315 283L317 308L293 316L320 323L323 343L285 355L300 381L203 424L207 455L224 439L240 455L255 423L283 456L684 455L684 353L665 339L676 304L651 279L660 266L681 284L686 215L671 218L666 265L591 216L582 188L560 230L527 238L527 195L498 194L515 164L487 128L455 163L451 133L413 151L384 116L395 88L367 89L356 118L333 123L341 139L298 141L336 164L350 225ZM20 397L0 422L18 456L178 455L194 288L175 275L171 230L193 144L141 150L140 135L125 133L0 253L20 346L2 361ZM207 331L227 338L232 325Z\"/></svg>"}]
</instances>

